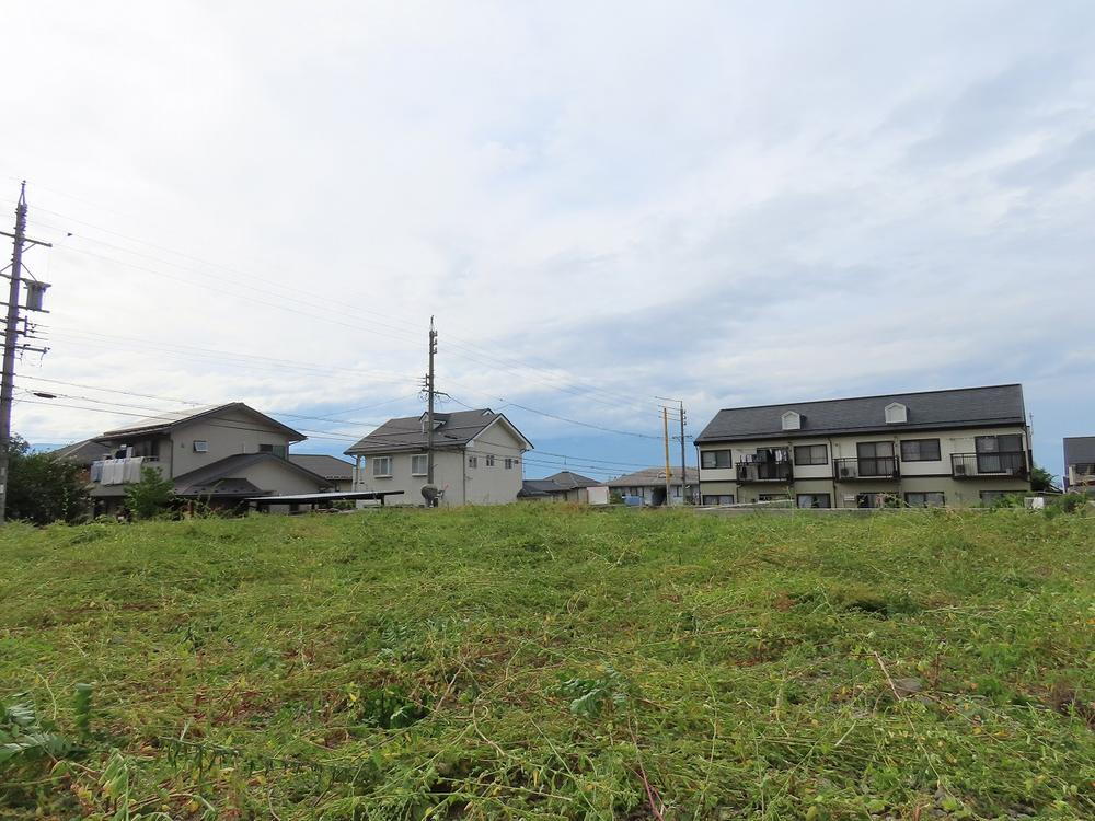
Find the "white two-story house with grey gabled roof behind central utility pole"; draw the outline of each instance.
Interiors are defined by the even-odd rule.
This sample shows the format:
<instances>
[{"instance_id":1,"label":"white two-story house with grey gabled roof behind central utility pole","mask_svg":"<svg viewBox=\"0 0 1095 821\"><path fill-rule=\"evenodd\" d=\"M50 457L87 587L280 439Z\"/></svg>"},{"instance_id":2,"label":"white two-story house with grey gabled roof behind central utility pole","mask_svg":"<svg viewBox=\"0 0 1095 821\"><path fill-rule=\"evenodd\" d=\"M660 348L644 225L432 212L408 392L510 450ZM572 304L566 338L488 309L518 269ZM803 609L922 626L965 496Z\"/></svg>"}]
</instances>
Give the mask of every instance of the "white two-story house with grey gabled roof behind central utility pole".
<instances>
[{"instance_id":1,"label":"white two-story house with grey gabled roof behind central utility pole","mask_svg":"<svg viewBox=\"0 0 1095 821\"><path fill-rule=\"evenodd\" d=\"M422 505L427 478L426 414L389 419L346 450L355 490L402 490ZM502 505L521 490L523 454L532 449L504 414L489 408L434 414L434 486L440 505Z\"/></svg>"}]
</instances>

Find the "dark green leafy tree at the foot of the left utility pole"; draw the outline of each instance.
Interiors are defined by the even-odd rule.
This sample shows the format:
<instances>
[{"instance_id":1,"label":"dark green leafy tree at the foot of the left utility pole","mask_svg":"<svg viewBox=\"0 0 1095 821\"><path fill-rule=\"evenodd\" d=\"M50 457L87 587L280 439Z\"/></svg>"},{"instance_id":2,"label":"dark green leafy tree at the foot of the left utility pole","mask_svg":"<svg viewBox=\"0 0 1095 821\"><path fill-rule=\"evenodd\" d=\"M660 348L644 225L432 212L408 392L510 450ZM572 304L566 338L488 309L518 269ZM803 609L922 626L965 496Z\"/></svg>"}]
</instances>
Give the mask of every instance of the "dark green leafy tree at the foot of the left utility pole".
<instances>
[{"instance_id":1,"label":"dark green leafy tree at the foot of the left utility pole","mask_svg":"<svg viewBox=\"0 0 1095 821\"><path fill-rule=\"evenodd\" d=\"M89 510L83 469L49 453L32 453L20 436L8 444L8 518L49 524L77 522Z\"/></svg>"}]
</instances>

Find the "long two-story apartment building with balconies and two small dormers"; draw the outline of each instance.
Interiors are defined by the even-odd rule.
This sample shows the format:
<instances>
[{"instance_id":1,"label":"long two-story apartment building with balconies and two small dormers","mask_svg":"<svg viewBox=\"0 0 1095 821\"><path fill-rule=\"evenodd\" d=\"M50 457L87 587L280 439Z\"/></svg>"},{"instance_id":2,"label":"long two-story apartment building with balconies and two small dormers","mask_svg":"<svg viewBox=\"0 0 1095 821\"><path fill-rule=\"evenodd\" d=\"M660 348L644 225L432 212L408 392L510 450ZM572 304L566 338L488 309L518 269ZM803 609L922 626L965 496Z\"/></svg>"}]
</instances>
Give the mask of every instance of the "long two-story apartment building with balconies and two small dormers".
<instances>
[{"instance_id":1,"label":"long two-story apartment building with balconies and two small dormers","mask_svg":"<svg viewBox=\"0 0 1095 821\"><path fill-rule=\"evenodd\" d=\"M1030 490L1023 386L719 410L696 437L705 505L977 505Z\"/></svg>"}]
</instances>

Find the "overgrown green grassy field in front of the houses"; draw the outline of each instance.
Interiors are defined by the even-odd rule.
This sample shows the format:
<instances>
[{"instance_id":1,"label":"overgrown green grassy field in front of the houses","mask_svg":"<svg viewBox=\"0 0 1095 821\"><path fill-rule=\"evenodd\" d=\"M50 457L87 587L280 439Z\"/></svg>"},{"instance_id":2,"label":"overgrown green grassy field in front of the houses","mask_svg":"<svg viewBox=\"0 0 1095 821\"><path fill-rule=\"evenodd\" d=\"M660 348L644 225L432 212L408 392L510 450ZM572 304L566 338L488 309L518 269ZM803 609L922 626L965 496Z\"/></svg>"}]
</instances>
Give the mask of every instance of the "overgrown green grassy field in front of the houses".
<instances>
[{"instance_id":1,"label":"overgrown green grassy field in front of the houses","mask_svg":"<svg viewBox=\"0 0 1095 821\"><path fill-rule=\"evenodd\" d=\"M1091 819L1093 547L1007 510L9 525L0 818Z\"/></svg>"}]
</instances>

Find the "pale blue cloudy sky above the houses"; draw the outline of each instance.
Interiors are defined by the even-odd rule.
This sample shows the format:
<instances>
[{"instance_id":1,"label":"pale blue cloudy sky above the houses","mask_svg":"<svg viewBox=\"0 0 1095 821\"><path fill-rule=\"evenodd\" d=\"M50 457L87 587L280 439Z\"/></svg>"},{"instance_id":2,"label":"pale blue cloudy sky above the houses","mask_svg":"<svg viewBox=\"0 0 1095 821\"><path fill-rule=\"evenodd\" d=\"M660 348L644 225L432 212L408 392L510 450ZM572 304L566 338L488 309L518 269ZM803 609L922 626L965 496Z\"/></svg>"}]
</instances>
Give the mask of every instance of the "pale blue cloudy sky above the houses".
<instances>
[{"instance_id":1,"label":"pale blue cloudy sky above the houses","mask_svg":"<svg viewBox=\"0 0 1095 821\"><path fill-rule=\"evenodd\" d=\"M1095 435L1090 2L0 18L0 212L25 178L54 243L32 442L244 401L339 453L422 410L431 315L442 409L504 412L529 477L659 463L659 396L695 436L1022 382L1037 462Z\"/></svg>"}]
</instances>

